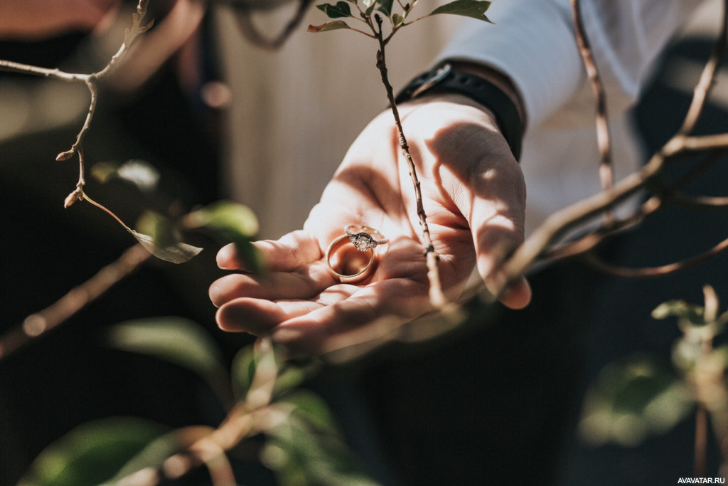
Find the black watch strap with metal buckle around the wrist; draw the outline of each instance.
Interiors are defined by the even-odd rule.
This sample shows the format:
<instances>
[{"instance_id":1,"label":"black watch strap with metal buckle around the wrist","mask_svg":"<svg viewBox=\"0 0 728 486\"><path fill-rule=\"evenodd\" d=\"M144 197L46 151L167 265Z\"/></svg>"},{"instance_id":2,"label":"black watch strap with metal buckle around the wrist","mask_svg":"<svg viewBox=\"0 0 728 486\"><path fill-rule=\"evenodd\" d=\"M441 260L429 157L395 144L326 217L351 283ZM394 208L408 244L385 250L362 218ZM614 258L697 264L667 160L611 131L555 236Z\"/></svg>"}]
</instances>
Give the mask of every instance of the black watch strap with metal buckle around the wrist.
<instances>
[{"instance_id":1,"label":"black watch strap with metal buckle around the wrist","mask_svg":"<svg viewBox=\"0 0 728 486\"><path fill-rule=\"evenodd\" d=\"M510 97L493 83L475 74L454 71L449 63L444 63L413 79L397 94L395 103L403 103L423 93L458 93L490 109L515 160L521 158L521 116Z\"/></svg>"}]
</instances>

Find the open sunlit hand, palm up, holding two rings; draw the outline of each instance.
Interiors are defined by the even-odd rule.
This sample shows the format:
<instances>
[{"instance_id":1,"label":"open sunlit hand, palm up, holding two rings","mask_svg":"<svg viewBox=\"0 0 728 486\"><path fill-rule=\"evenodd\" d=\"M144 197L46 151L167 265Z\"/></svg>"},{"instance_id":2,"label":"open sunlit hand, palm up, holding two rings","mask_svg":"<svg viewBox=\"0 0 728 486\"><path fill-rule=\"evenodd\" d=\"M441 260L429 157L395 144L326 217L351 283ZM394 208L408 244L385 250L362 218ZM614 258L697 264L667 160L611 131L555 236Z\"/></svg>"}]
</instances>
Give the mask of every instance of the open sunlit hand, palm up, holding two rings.
<instances>
[{"instance_id":1,"label":"open sunlit hand, palm up, holding two rings","mask_svg":"<svg viewBox=\"0 0 728 486\"><path fill-rule=\"evenodd\" d=\"M422 98L401 106L400 115L443 290L456 299L476 264L487 284L497 259L523 241L523 175L490 114L467 98ZM415 208L392 114L385 111L352 144L304 230L255 243L268 273L234 273L210 286L219 326L323 353L365 339L358 333L381 316L403 323L431 310ZM325 262L326 248L347 224L374 227L389 238L378 247L376 270L355 284L341 283ZM245 270L231 245L218 253L218 265ZM520 308L530 296L521 279L502 303Z\"/></svg>"}]
</instances>

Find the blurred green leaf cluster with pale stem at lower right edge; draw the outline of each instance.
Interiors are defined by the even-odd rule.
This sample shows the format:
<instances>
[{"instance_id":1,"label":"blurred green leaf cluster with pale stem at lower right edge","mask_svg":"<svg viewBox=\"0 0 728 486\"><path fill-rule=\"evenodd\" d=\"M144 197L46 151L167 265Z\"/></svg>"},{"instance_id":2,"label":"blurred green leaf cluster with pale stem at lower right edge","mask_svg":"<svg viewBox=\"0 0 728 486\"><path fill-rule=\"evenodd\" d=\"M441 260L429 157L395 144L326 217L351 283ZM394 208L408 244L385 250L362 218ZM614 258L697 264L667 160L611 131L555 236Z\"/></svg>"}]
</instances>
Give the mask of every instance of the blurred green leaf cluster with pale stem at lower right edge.
<instances>
[{"instance_id":1,"label":"blurred green leaf cluster with pale stem at lower right edge","mask_svg":"<svg viewBox=\"0 0 728 486\"><path fill-rule=\"evenodd\" d=\"M602 370L583 404L579 426L587 442L633 447L699 408L719 423L725 418L728 353L724 346L713 348L713 340L724 331L728 313L719 315L711 287L704 294L705 305L671 300L652 312L656 319L676 318L682 332L671 363L632 356Z\"/></svg>"}]
</instances>

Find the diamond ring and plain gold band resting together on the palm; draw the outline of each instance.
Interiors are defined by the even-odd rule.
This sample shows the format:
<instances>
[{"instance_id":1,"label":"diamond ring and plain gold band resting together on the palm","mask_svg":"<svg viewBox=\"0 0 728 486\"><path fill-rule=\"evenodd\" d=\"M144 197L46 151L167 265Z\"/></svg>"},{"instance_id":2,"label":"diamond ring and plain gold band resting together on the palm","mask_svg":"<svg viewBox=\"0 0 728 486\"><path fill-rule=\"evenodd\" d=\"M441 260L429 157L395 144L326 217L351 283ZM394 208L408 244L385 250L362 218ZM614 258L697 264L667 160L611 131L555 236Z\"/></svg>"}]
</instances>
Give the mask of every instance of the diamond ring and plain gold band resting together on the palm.
<instances>
[{"instance_id":1,"label":"diamond ring and plain gold band resting together on the palm","mask_svg":"<svg viewBox=\"0 0 728 486\"><path fill-rule=\"evenodd\" d=\"M357 251L347 252L347 248L344 247L347 243L352 243ZM384 243L387 243L387 238L384 238L378 230L349 224L344 227L344 235L333 240L328 246L325 256L326 266L342 283L362 281L373 267L376 247Z\"/></svg>"}]
</instances>

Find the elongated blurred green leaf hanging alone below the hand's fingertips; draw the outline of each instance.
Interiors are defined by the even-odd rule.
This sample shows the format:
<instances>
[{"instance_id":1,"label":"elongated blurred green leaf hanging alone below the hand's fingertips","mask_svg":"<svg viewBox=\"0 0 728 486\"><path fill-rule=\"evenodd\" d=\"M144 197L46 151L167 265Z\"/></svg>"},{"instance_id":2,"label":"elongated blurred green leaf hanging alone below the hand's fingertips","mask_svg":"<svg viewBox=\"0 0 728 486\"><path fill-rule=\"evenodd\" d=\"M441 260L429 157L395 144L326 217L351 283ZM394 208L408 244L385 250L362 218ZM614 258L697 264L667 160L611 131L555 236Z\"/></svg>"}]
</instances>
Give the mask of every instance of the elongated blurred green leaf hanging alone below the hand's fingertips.
<instances>
[{"instance_id":1,"label":"elongated blurred green leaf hanging alone below the hand's fingertips","mask_svg":"<svg viewBox=\"0 0 728 486\"><path fill-rule=\"evenodd\" d=\"M214 387L227 382L220 350L199 324L181 317L144 318L111 327L114 348L140 353L189 369Z\"/></svg>"}]
</instances>

